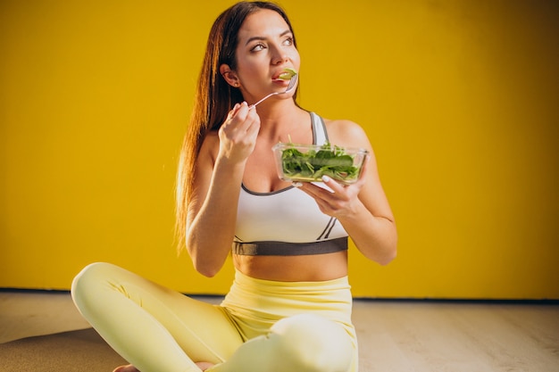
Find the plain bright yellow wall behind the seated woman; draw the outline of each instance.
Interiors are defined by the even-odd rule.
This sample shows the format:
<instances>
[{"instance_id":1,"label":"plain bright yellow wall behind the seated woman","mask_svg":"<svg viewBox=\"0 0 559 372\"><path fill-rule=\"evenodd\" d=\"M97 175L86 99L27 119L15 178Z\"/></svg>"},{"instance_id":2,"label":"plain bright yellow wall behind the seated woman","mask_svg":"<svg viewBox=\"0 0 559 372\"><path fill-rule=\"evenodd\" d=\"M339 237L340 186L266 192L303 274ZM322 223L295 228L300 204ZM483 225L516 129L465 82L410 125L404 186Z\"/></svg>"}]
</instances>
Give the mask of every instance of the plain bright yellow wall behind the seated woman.
<instances>
[{"instance_id":1,"label":"plain bright yellow wall behind the seated woman","mask_svg":"<svg viewBox=\"0 0 559 372\"><path fill-rule=\"evenodd\" d=\"M175 254L173 187L205 38L231 1L0 2L0 287L111 261L224 293ZM559 298L559 6L284 0L300 103L363 125L396 214L355 296ZM215 227L216 230L219 227Z\"/></svg>"}]
</instances>

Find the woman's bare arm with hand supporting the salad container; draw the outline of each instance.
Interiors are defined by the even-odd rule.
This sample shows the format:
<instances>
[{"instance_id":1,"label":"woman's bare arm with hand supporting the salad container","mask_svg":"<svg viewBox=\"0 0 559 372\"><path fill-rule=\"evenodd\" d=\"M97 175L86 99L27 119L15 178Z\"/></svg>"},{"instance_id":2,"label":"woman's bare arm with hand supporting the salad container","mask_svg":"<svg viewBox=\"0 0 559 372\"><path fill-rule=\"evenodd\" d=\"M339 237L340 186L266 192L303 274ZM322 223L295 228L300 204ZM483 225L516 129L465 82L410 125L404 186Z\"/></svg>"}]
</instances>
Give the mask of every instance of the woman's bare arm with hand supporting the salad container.
<instances>
[{"instance_id":1,"label":"woman's bare arm with hand supporting the salad container","mask_svg":"<svg viewBox=\"0 0 559 372\"><path fill-rule=\"evenodd\" d=\"M313 196L323 213L339 220L365 257L386 265L396 258L396 222L380 184L371 143L363 128L351 121L330 122L328 130L332 144L365 148L369 161L353 185L326 179L332 192L310 183L303 183L301 189Z\"/></svg>"}]
</instances>

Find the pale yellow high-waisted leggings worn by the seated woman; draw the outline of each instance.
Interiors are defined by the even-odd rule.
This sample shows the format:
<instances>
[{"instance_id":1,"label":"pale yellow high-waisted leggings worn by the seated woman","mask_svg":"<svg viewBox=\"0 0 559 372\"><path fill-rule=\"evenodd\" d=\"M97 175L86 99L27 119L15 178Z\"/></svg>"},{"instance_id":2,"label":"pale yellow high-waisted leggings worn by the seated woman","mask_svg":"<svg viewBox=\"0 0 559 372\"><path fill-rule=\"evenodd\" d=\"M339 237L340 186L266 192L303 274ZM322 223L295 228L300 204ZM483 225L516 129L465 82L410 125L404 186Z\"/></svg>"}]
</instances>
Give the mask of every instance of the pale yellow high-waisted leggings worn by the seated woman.
<instances>
[{"instance_id":1,"label":"pale yellow high-waisted leggings worn by the seated woman","mask_svg":"<svg viewBox=\"0 0 559 372\"><path fill-rule=\"evenodd\" d=\"M347 278L275 282L236 273L213 305L108 263L74 279L81 314L141 372L357 372Z\"/></svg>"}]
</instances>

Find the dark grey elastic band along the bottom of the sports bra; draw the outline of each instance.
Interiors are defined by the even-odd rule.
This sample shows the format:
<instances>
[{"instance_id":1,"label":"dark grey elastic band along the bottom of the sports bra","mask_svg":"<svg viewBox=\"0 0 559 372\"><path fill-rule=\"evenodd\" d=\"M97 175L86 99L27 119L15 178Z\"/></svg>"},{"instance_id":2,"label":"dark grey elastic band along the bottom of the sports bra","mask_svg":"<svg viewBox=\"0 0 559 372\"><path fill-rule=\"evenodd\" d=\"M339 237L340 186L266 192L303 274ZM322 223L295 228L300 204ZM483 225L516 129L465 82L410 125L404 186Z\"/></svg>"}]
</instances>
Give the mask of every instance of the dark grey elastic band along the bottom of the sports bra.
<instances>
[{"instance_id":1,"label":"dark grey elastic band along the bottom of the sports bra","mask_svg":"<svg viewBox=\"0 0 559 372\"><path fill-rule=\"evenodd\" d=\"M254 242L233 243L233 253L242 256L304 256L347 250L347 236L311 243Z\"/></svg>"}]
</instances>

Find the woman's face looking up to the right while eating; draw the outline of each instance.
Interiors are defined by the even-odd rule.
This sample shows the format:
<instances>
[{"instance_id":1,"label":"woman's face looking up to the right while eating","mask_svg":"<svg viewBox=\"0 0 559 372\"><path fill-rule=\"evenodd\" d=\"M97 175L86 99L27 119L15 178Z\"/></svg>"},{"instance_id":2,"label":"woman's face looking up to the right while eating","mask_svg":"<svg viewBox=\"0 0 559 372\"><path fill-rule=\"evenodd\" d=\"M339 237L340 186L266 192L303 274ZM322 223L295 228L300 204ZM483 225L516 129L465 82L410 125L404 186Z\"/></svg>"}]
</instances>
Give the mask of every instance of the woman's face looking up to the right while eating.
<instances>
[{"instance_id":1,"label":"woman's face looking up to the right while eating","mask_svg":"<svg viewBox=\"0 0 559 372\"><path fill-rule=\"evenodd\" d=\"M236 52L235 73L248 103L285 90L288 80L278 76L286 67L299 70L293 34L278 12L263 9L247 16L238 31Z\"/></svg>"}]
</instances>

